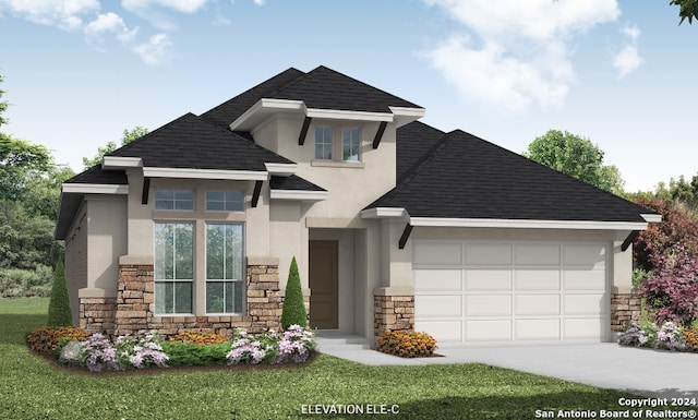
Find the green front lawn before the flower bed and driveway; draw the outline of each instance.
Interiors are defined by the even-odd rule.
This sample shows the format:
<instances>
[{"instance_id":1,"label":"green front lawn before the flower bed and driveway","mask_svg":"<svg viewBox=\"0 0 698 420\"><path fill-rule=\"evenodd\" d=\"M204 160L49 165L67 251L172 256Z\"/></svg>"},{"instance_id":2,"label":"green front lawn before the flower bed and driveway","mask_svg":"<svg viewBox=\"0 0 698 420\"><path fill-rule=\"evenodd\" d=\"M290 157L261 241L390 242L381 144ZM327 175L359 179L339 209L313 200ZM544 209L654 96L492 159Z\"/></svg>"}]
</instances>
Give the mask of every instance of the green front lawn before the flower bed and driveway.
<instances>
[{"instance_id":1,"label":"green front lawn before the flower bed and driveway","mask_svg":"<svg viewBox=\"0 0 698 420\"><path fill-rule=\"evenodd\" d=\"M622 409L625 395L484 364L365 367L323 355L300 368L88 374L27 350L47 308L47 299L0 300L2 419L519 420L535 410ZM399 413L302 415L316 404L398 405Z\"/></svg>"}]
</instances>

